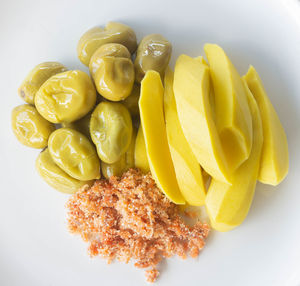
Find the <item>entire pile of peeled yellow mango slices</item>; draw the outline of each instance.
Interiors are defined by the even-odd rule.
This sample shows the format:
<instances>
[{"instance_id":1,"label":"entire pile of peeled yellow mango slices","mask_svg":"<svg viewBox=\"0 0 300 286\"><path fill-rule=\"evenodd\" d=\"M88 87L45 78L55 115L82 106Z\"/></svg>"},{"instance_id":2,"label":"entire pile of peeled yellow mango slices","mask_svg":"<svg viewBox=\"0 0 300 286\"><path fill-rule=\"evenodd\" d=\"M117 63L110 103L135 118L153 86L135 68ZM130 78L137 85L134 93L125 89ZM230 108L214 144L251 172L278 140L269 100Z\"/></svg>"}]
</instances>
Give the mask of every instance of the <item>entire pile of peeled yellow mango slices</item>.
<instances>
[{"instance_id":1,"label":"entire pile of peeled yellow mango slices","mask_svg":"<svg viewBox=\"0 0 300 286\"><path fill-rule=\"evenodd\" d=\"M164 85L146 73L136 166L171 201L205 205L212 227L228 231L247 216L257 180L275 186L285 178L288 144L254 67L241 77L221 47L204 51L208 62L181 55Z\"/></svg>"}]
</instances>

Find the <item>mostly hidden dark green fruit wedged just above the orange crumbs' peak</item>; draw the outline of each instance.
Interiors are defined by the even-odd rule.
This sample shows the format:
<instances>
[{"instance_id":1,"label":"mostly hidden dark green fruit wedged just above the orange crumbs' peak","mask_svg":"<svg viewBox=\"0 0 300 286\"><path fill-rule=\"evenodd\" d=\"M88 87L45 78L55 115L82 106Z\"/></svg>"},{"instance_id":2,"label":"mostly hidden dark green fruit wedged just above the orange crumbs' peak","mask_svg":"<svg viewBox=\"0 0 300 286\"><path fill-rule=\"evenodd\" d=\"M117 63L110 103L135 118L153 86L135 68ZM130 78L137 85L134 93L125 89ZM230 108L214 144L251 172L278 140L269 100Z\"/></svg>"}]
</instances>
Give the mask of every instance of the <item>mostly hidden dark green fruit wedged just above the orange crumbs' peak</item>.
<instances>
[{"instance_id":1,"label":"mostly hidden dark green fruit wedged just above the orange crumbs' peak","mask_svg":"<svg viewBox=\"0 0 300 286\"><path fill-rule=\"evenodd\" d=\"M135 141L136 141L137 131L135 128L132 130L132 138L130 145L124 155L121 158L112 164L107 164L105 162L101 162L101 171L103 176L106 179L109 179L111 176L122 176L130 168L134 168L134 150L135 150Z\"/></svg>"}]
</instances>

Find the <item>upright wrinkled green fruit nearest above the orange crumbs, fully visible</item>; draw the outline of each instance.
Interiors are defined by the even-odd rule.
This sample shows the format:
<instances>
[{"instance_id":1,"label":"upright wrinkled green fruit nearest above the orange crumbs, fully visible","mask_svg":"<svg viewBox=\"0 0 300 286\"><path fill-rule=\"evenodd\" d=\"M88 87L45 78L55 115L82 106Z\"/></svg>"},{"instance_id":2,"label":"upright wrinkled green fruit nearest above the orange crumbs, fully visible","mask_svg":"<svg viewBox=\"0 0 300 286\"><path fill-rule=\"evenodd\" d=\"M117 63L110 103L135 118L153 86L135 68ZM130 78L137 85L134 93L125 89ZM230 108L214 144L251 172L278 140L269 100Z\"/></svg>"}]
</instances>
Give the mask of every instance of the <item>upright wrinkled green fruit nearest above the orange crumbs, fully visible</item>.
<instances>
[{"instance_id":1,"label":"upright wrinkled green fruit nearest above the orange crumbs, fully visible","mask_svg":"<svg viewBox=\"0 0 300 286\"><path fill-rule=\"evenodd\" d=\"M91 116L90 134L100 159L108 164L117 162L131 141L132 121L129 111L121 103L99 103Z\"/></svg>"}]
</instances>

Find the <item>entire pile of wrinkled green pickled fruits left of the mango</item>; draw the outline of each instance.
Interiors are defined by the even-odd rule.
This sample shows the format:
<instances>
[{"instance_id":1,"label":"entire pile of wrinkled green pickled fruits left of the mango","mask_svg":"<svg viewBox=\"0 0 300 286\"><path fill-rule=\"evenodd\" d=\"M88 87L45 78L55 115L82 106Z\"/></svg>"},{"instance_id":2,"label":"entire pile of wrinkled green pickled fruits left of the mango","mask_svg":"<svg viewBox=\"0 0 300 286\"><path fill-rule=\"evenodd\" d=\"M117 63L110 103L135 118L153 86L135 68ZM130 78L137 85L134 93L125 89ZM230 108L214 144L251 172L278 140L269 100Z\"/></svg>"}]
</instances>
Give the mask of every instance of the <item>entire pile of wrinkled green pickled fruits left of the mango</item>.
<instances>
[{"instance_id":1,"label":"entire pile of wrinkled green pickled fruits left of the mango","mask_svg":"<svg viewBox=\"0 0 300 286\"><path fill-rule=\"evenodd\" d=\"M28 73L18 89L25 104L12 110L11 126L20 143L42 149L35 166L46 183L72 194L136 167L140 82L147 70L163 76L171 51L159 34L138 44L129 26L109 22L78 42L90 75L59 62Z\"/></svg>"}]
</instances>

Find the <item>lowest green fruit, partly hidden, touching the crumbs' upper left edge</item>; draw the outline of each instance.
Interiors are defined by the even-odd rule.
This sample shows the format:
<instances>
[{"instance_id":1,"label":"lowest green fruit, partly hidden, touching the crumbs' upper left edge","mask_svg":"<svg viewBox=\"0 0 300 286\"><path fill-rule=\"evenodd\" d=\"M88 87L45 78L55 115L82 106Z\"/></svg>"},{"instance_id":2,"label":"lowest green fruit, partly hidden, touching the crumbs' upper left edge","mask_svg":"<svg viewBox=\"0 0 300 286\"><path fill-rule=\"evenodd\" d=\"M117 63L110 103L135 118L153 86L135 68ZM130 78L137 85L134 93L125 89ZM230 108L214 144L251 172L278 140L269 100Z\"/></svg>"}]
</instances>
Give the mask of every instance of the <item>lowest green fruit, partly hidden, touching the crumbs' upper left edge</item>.
<instances>
[{"instance_id":1,"label":"lowest green fruit, partly hidden, touching the crumbs' upper left edge","mask_svg":"<svg viewBox=\"0 0 300 286\"><path fill-rule=\"evenodd\" d=\"M48 148L39 154L35 167L48 185L62 193L74 194L84 185L93 183L93 181L79 181L70 177L54 163Z\"/></svg>"}]
</instances>

